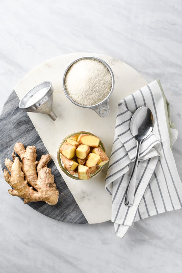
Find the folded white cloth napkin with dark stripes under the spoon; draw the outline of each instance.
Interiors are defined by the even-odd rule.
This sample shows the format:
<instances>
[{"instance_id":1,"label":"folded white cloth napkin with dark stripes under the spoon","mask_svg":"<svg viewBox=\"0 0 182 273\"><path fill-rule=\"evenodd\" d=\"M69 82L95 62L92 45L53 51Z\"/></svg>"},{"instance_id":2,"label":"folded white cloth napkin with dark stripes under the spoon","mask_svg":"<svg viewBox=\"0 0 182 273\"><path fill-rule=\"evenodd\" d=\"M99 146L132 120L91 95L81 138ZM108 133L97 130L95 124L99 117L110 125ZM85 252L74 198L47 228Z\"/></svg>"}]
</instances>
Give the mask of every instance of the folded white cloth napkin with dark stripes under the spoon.
<instances>
[{"instance_id":1,"label":"folded white cloth napkin with dark stripes under the spoon","mask_svg":"<svg viewBox=\"0 0 182 273\"><path fill-rule=\"evenodd\" d=\"M147 106L153 113L152 133L141 143L133 206L125 206L133 170L136 140L130 131L133 113ZM118 103L115 136L105 189L112 194L115 233L123 238L135 221L181 208L182 183L172 153L177 129L170 120L169 103L159 79Z\"/></svg>"}]
</instances>

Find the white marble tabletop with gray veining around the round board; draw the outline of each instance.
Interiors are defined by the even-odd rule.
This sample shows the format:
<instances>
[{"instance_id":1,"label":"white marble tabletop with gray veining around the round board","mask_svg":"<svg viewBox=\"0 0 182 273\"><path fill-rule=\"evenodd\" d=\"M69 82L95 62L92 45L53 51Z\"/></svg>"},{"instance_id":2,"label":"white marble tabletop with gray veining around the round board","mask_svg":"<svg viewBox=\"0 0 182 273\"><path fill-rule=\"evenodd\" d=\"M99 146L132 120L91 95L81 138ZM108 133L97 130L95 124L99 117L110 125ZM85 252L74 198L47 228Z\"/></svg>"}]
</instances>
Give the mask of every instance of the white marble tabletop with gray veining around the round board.
<instances>
[{"instance_id":1,"label":"white marble tabletop with gray veining around the round board","mask_svg":"<svg viewBox=\"0 0 182 273\"><path fill-rule=\"evenodd\" d=\"M8 94L47 59L95 52L123 60L151 82L160 78L179 136L173 151L181 167L182 2L1 1L0 82ZM113 224L52 220L7 194L0 171L0 272L182 271L182 210L136 222L123 239Z\"/></svg>"}]
</instances>

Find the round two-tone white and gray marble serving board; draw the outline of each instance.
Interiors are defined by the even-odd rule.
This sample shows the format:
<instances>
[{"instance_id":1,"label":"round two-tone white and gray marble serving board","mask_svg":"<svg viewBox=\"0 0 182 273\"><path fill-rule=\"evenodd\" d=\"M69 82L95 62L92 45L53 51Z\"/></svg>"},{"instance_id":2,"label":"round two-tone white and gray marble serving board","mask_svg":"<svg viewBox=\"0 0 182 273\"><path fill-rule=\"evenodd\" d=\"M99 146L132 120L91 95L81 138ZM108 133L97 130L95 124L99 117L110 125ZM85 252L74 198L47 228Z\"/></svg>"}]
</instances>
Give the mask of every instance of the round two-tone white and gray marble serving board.
<instances>
[{"instance_id":1,"label":"round two-tone white and gray marble serving board","mask_svg":"<svg viewBox=\"0 0 182 273\"><path fill-rule=\"evenodd\" d=\"M62 76L66 67L83 56L101 58L113 70L115 86L109 100L110 114L105 118L99 117L91 109L74 105L63 92ZM45 114L26 113L18 107L25 93L45 80L51 81L54 88L53 110L57 115L56 121ZM111 219L112 197L104 189L108 163L99 175L90 180L73 180L60 169L57 150L62 139L70 133L89 131L100 137L110 156L118 101L146 84L146 80L135 69L118 59L93 53L71 53L40 64L15 86L0 117L2 169L5 168L5 158L11 159L16 142L22 142L25 147L35 145L37 160L42 154L51 154L52 160L48 167L52 169L57 188L62 193L55 206L45 202L31 202L29 206L59 221L92 224Z\"/></svg>"}]
</instances>

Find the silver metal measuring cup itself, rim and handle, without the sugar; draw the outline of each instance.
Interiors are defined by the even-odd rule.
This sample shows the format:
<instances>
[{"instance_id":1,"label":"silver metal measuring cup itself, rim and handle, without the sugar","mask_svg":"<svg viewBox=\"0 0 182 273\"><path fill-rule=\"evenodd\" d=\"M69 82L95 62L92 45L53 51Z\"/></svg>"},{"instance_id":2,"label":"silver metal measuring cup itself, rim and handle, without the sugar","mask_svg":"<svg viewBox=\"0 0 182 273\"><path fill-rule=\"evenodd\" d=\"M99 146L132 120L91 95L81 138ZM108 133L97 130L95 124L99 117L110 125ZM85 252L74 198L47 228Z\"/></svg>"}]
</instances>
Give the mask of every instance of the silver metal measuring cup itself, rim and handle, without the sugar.
<instances>
[{"instance_id":1,"label":"silver metal measuring cup itself, rim and handle, without the sugar","mask_svg":"<svg viewBox=\"0 0 182 273\"><path fill-rule=\"evenodd\" d=\"M106 98L105 98L103 101L101 101L101 102L99 102L99 103L97 103L97 104L95 104L95 105L85 106L85 105L81 105L81 104L79 104L79 103L76 103L74 100L72 100L72 99L69 97L68 93L66 92L66 88L65 88L65 76L66 76L66 73L68 72L69 68L70 68L75 62L77 62L77 61L79 61L79 60L82 60L82 59L95 59L95 60L97 60L97 61L102 62L102 63L107 67L107 69L109 70L109 72L110 72L110 74L111 74L112 86L111 86L110 93L106 96ZM109 113L110 113L110 109L109 109L109 98L110 98L110 96L111 96L111 94L112 94L112 92L113 92L113 89L114 89L114 75L113 75L113 71L111 70L110 66L109 66L106 62L104 62L102 59L99 59L99 58L97 58L97 57L91 57L91 56L88 56L88 57L87 57L87 56L86 56L86 57L81 57L81 58L79 58L79 59L74 60L74 61L66 68L66 70L65 70L65 72L64 72L64 74L63 74L63 78L62 78L62 88L63 88L63 91L64 91L66 97L67 97L72 103L76 104L77 106L80 106L80 107L83 107L83 108L92 109L92 110L94 110L94 111L95 111L99 116L101 116L101 117L106 117L106 116L109 115Z\"/></svg>"}]
</instances>

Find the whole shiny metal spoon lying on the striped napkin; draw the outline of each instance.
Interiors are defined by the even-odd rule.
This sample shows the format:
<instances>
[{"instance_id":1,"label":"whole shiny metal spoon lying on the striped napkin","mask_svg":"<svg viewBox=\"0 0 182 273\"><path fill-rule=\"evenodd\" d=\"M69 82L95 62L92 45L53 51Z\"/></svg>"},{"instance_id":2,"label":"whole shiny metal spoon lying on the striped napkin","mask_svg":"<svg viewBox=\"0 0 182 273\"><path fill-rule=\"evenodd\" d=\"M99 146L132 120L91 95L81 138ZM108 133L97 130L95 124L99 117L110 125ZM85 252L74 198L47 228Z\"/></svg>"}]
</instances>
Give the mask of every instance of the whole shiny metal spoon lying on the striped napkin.
<instances>
[{"instance_id":1,"label":"whole shiny metal spoon lying on the striped napkin","mask_svg":"<svg viewBox=\"0 0 182 273\"><path fill-rule=\"evenodd\" d=\"M151 110L142 106L136 110L133 114L130 122L130 130L134 138L136 139L136 157L131 174L130 182L127 188L125 205L131 207L133 205L135 185L136 185L136 171L138 166L138 158L141 142L150 135L153 129L153 115Z\"/></svg>"}]
</instances>

